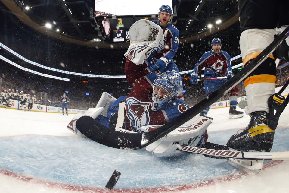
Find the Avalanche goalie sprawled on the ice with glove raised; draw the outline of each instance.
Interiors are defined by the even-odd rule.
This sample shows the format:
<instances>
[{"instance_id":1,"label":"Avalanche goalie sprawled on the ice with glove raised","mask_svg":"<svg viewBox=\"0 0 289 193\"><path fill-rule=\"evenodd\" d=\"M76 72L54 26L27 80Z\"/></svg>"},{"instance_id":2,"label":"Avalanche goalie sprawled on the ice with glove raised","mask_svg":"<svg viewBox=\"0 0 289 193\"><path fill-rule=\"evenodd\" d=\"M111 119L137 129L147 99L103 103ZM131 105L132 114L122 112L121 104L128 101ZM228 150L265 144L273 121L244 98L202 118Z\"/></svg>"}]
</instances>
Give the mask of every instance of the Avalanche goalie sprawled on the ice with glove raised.
<instances>
[{"instance_id":1,"label":"Avalanche goalie sprawled on the ice with glove raised","mask_svg":"<svg viewBox=\"0 0 289 193\"><path fill-rule=\"evenodd\" d=\"M135 34L137 34L137 36L140 35L141 37L139 37L139 39L143 41L146 34L144 34L143 37L140 32L149 32L150 30L141 30L142 26L156 26L156 24L151 21L143 20L137 21L136 26L138 25L139 30L137 31L138 28L136 28ZM131 29L133 27L135 26L133 25ZM160 32L158 32L158 36L159 35ZM163 36L163 33L161 33L161 36ZM129 57L132 57L126 57L125 74L127 81L132 86L131 92L128 96L121 96L118 99L104 92L98 101L97 108L89 109L85 115L89 115L102 125L117 131L140 133L151 131L165 124L187 111L189 107L183 100L181 76L176 71L156 74L147 60L145 60L145 57L149 55L149 48L147 52L131 50L131 47L135 48L135 46L133 45L134 37L131 33L130 37L132 41L126 53L134 52L135 55L128 54ZM163 38L156 39L162 41ZM138 45L142 44L142 42L135 43ZM148 45L154 47L154 43L149 43ZM134 63L131 61L133 57L139 60L135 60L136 63ZM82 115L75 116L67 125L67 128L76 134L80 132L75 127L75 121L80 116ZM196 126L196 129L187 129L184 133L176 130L176 132L170 133L165 141L152 143L146 147L146 150L153 152L157 157L161 157L169 155L175 151L179 145L189 144L200 147L204 141L207 141L206 128L210 124L210 119L196 116L193 120L194 124L201 122L200 125Z\"/></svg>"}]
</instances>

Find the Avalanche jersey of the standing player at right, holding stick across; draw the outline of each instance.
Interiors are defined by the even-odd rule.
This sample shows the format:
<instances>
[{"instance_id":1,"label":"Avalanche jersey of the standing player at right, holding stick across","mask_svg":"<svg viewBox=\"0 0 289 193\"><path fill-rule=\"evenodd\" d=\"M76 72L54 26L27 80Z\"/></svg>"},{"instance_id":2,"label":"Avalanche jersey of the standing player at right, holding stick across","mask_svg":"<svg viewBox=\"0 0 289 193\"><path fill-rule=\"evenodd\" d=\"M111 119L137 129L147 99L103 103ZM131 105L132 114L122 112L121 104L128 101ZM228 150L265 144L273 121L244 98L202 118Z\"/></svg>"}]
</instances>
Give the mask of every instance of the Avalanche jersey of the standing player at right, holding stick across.
<instances>
[{"instance_id":1,"label":"Avalanche jersey of the standing player at right, holding stick across","mask_svg":"<svg viewBox=\"0 0 289 193\"><path fill-rule=\"evenodd\" d=\"M194 72L200 74L202 68L209 68L213 70L216 74L219 74L220 76L225 76L226 72L232 70L230 55L222 50L219 54L217 54L213 50L205 52L200 58L200 60L196 63ZM205 70L204 74L210 74L210 71Z\"/></svg>"}]
</instances>

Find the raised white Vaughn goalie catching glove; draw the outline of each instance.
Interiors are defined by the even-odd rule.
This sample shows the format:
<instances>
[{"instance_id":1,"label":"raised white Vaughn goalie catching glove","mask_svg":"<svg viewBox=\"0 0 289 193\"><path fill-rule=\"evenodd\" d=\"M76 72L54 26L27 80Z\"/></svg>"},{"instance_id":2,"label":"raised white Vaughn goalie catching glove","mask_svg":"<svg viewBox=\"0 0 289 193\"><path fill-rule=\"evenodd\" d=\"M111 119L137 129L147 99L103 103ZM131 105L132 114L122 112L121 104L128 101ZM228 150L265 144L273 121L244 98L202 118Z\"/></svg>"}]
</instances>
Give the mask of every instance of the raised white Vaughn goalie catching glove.
<instances>
[{"instance_id":1,"label":"raised white Vaughn goalie catching glove","mask_svg":"<svg viewBox=\"0 0 289 193\"><path fill-rule=\"evenodd\" d=\"M152 49L164 39L163 30L152 21L141 19L129 28L130 45L124 56L140 65L148 58Z\"/></svg>"}]
</instances>

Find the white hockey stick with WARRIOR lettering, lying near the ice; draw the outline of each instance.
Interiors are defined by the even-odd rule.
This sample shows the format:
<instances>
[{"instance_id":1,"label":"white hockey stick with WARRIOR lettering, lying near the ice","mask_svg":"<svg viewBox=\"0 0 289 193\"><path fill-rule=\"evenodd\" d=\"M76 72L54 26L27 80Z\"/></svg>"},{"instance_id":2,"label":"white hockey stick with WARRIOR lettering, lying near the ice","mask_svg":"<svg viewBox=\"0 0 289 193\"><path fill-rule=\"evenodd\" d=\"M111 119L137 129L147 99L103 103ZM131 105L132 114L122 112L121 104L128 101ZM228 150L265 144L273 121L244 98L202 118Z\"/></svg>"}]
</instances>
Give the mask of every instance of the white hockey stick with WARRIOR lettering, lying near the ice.
<instances>
[{"instance_id":1,"label":"white hockey stick with WARRIOR lettering, lying near the ice","mask_svg":"<svg viewBox=\"0 0 289 193\"><path fill-rule=\"evenodd\" d=\"M289 151L281 152L252 152L252 151L231 151L215 150L201 147L185 146L182 151L189 153L198 153L205 156L237 158L248 160L289 160Z\"/></svg>"}]
</instances>

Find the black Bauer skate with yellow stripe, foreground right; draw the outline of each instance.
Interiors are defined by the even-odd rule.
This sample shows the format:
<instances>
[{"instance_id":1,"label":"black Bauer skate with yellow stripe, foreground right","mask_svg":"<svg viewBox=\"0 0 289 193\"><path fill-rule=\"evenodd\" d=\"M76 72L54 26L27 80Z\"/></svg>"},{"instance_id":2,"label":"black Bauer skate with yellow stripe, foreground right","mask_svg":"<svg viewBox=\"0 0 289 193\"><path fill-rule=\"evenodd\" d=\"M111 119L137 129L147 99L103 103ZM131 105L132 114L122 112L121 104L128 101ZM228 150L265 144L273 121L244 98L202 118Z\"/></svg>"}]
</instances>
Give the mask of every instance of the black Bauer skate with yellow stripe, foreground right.
<instances>
[{"instance_id":1,"label":"black Bauer skate with yellow stripe, foreground right","mask_svg":"<svg viewBox=\"0 0 289 193\"><path fill-rule=\"evenodd\" d=\"M289 82L281 90L268 99L269 113L256 111L251 113L249 125L239 134L233 135L227 142L227 146L241 151L265 151L269 152L273 145L275 129L278 120L289 102L281 93ZM264 160L241 160L228 158L228 163L249 173L257 174L263 168Z\"/></svg>"}]
</instances>

